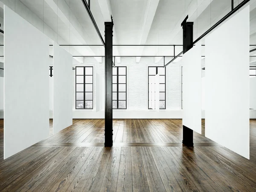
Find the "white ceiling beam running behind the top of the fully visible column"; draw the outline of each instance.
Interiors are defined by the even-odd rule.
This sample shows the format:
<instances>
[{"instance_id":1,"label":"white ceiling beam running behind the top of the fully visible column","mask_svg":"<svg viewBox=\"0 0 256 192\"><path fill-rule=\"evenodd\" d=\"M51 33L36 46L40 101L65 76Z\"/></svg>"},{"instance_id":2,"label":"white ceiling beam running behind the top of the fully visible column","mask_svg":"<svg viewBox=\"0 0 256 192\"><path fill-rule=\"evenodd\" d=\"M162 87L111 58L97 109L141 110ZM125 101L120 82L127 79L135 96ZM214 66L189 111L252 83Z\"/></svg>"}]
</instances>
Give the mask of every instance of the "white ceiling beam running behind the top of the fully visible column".
<instances>
[{"instance_id":1,"label":"white ceiling beam running behind the top of the fully visible column","mask_svg":"<svg viewBox=\"0 0 256 192\"><path fill-rule=\"evenodd\" d=\"M111 22L112 9L111 9L110 0L98 0L98 3L99 3L100 10L102 12L104 21ZM114 21L114 18L113 18L113 21ZM117 38L116 38L115 22L113 26L113 44L118 44ZM113 46L113 55L119 55L119 50L117 46ZM119 63L120 58L116 58L116 60Z\"/></svg>"}]
</instances>

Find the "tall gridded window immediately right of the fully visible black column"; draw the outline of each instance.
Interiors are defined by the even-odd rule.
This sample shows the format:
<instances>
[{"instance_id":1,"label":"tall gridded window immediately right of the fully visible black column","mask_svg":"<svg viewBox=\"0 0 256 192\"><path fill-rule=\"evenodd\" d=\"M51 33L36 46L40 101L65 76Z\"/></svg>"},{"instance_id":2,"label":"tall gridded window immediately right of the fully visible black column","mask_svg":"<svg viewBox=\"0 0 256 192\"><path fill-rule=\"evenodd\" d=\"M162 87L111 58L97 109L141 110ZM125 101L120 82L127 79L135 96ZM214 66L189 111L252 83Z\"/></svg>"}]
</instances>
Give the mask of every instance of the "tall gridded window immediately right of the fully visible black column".
<instances>
[{"instance_id":1,"label":"tall gridded window immediately right of the fully visible black column","mask_svg":"<svg viewBox=\"0 0 256 192\"><path fill-rule=\"evenodd\" d=\"M113 67L113 109L126 109L126 67Z\"/></svg>"}]
</instances>

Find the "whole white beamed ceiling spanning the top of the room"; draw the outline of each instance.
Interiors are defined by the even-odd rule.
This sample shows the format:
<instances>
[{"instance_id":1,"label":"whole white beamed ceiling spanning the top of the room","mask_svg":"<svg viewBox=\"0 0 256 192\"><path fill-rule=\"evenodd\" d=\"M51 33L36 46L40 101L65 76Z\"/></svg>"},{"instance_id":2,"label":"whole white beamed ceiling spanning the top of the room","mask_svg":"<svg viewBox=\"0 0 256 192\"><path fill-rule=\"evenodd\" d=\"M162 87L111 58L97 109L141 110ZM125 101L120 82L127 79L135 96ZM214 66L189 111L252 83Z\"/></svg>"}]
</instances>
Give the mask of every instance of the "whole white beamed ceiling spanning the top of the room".
<instances>
[{"instance_id":1,"label":"whole white beamed ceiling spanning the top of the room","mask_svg":"<svg viewBox=\"0 0 256 192\"><path fill-rule=\"evenodd\" d=\"M234 6L242 0L234 0ZM2 2L2 3L1 3ZM58 44L102 44L81 0L0 0ZM256 44L256 0L250 0L250 44ZM113 16L113 44L182 44L180 23L194 22L194 40L231 10L231 0L90 0L104 38L104 22ZM3 9L0 9L3 23ZM3 25L0 27L3 29ZM203 40L204 43L204 40ZM0 44L2 40L0 39ZM103 46L67 46L73 55L104 55ZM253 49L256 47L250 47ZM182 47L175 47L175 55ZM0 48L0 52L2 49ZM251 55L256 52L251 52ZM171 46L114 46L113 55L174 55ZM95 57L102 62L102 57ZM155 57L155 62L161 57ZM120 58L116 57L120 62ZM251 62L256 61L251 58ZM83 63L83 57L76 61ZM178 61L176 61L178 62Z\"/></svg>"}]
</instances>

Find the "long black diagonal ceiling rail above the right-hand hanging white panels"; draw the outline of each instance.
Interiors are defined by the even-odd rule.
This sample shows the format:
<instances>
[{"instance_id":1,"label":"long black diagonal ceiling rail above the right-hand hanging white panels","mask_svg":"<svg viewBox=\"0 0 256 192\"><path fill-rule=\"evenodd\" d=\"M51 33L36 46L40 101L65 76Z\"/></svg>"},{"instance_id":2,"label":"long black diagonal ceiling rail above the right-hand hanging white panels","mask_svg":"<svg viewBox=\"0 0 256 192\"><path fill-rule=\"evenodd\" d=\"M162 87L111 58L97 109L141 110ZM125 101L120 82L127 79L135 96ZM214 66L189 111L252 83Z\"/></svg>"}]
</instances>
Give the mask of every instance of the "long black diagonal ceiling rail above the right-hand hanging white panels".
<instances>
[{"instance_id":1,"label":"long black diagonal ceiling rail above the right-hand hanging white panels","mask_svg":"<svg viewBox=\"0 0 256 192\"><path fill-rule=\"evenodd\" d=\"M221 20L219 20L217 23L215 23L210 29L208 29L206 32L204 32L203 35L201 35L199 38L197 38L193 44L196 44L198 41L200 41L202 38L204 38L206 35L208 35L209 32L211 32L213 29L215 29L217 26L219 26L221 23L223 23L225 20L227 20L227 18L229 18L231 15L233 15L236 11L238 11L242 6L244 6L246 3L248 3L250 0L244 0L242 1L238 6L236 6L236 8L234 8L233 10L231 10L227 15L225 15L224 17L222 17ZM180 56L181 54L183 54L183 51L180 52L178 55ZM177 55L177 56L178 56ZM169 65L170 63L172 63L172 61L174 61L177 56L175 58L173 58L171 61L169 61L164 67L166 67L167 65Z\"/></svg>"}]
</instances>

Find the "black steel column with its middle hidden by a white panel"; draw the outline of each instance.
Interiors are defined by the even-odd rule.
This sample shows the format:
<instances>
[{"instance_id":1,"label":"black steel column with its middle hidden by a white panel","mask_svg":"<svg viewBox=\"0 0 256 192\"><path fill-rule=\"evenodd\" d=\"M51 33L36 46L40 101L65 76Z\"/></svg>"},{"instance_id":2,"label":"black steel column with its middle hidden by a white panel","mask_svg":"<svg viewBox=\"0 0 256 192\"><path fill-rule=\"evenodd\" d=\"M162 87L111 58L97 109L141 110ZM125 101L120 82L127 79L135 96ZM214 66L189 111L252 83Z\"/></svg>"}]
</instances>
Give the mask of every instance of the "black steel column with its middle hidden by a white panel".
<instances>
[{"instance_id":1,"label":"black steel column with its middle hidden by a white panel","mask_svg":"<svg viewBox=\"0 0 256 192\"><path fill-rule=\"evenodd\" d=\"M181 23L183 28L183 54L193 47L193 22L187 22L188 16ZM182 143L192 147L193 130L183 125L183 140Z\"/></svg>"}]
</instances>

